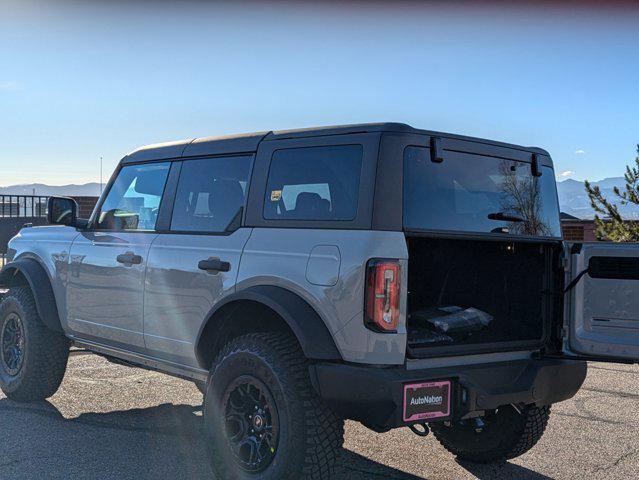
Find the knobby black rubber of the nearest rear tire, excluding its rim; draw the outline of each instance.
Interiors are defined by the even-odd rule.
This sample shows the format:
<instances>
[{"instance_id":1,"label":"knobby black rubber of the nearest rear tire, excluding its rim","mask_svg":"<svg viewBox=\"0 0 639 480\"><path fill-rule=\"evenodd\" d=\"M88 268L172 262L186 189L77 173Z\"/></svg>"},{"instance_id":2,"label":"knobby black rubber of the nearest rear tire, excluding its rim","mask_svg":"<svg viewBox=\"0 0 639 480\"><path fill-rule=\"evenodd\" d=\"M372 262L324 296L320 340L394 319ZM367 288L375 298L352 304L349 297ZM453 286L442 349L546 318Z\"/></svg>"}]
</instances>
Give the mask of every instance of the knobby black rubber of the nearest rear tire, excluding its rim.
<instances>
[{"instance_id":1,"label":"knobby black rubber of the nearest rear tire, excluding its rim","mask_svg":"<svg viewBox=\"0 0 639 480\"><path fill-rule=\"evenodd\" d=\"M308 361L285 333L253 333L225 345L211 368L204 402L213 469L226 480L332 478L344 441L344 421L317 396ZM279 443L271 463L247 472L224 433L223 397L235 379L253 375L269 390L279 415Z\"/></svg>"}]
</instances>

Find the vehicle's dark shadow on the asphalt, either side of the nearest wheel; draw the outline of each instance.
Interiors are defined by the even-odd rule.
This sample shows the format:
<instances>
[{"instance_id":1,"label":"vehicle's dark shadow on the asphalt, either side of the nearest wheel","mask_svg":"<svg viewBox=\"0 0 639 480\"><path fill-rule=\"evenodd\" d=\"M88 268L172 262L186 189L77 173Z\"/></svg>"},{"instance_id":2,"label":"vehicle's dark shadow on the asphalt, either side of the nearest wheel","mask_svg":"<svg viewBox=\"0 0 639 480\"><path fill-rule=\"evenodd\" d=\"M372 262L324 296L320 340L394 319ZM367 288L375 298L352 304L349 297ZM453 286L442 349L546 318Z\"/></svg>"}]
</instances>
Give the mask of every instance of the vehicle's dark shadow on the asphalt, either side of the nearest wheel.
<instances>
[{"instance_id":1,"label":"vehicle's dark shadow on the asphalt, either side of the nearest wheel","mask_svg":"<svg viewBox=\"0 0 639 480\"><path fill-rule=\"evenodd\" d=\"M200 406L83 413L0 400L0 478L211 479ZM336 479L418 479L348 450Z\"/></svg>"}]
</instances>

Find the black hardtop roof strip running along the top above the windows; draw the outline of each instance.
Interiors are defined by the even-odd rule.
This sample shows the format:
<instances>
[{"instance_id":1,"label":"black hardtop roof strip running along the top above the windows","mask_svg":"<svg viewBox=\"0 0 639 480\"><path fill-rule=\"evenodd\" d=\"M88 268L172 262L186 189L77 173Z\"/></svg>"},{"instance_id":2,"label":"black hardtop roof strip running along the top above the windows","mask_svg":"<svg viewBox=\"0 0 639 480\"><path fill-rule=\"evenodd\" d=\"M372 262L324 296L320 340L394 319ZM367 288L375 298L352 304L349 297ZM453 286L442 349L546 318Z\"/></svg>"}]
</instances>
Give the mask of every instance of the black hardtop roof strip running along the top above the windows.
<instances>
[{"instance_id":1,"label":"black hardtop roof strip running along the top above the windows","mask_svg":"<svg viewBox=\"0 0 639 480\"><path fill-rule=\"evenodd\" d=\"M510 143L497 142L483 138L455 135L452 133L422 130L411 127L405 123L362 123L354 125L336 125L326 127L301 128L296 130L279 130L271 132L245 133L239 135L225 135L218 137L192 138L176 142L157 143L140 147L122 159L122 163L144 162L153 160L165 160L169 158L194 157L202 155L226 155L238 153L251 153L257 150L262 141L285 140L290 138L323 137L329 135L347 135L353 133L396 132L408 134L430 135L443 138L465 140L469 142L483 143L506 147L516 150L525 150L542 155L548 152L537 147L524 147Z\"/></svg>"}]
</instances>

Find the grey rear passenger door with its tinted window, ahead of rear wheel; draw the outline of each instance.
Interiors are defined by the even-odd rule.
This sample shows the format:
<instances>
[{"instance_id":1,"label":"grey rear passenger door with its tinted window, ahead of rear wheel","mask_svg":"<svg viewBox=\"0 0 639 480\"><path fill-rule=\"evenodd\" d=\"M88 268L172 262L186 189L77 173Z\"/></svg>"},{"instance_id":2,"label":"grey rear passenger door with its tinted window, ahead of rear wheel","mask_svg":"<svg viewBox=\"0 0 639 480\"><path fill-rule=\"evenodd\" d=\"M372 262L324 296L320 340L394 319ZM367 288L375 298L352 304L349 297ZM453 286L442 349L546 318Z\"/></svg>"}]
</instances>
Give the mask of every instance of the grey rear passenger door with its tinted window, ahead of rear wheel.
<instances>
[{"instance_id":1,"label":"grey rear passenger door with its tinted window, ahead of rear wheel","mask_svg":"<svg viewBox=\"0 0 639 480\"><path fill-rule=\"evenodd\" d=\"M197 366L195 341L216 303L233 293L242 249L249 155L181 162L168 229L149 253L144 293L147 351Z\"/></svg>"}]
</instances>

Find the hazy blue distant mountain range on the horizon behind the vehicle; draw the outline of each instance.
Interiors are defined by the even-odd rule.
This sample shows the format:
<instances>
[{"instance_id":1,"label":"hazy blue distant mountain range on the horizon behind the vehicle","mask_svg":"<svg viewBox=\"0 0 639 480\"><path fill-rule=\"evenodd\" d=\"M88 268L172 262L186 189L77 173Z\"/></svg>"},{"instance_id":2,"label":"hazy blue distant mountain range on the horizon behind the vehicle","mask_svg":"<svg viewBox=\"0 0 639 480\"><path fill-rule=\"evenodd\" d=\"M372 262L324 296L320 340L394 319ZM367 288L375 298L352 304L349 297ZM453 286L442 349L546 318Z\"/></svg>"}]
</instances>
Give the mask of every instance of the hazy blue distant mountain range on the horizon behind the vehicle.
<instances>
[{"instance_id":1,"label":"hazy blue distant mountain range on the horizon behind the vehicle","mask_svg":"<svg viewBox=\"0 0 639 480\"><path fill-rule=\"evenodd\" d=\"M593 185L598 185L603 194L609 199L614 198L613 187L617 186L622 188L625 185L623 177L604 178L603 180L592 183ZM559 205L562 212L577 218L593 218L594 212L592 208L590 208L588 194L586 194L583 182L572 179L557 182L557 190L559 192ZM29 185L0 187L0 195L32 195L34 191L36 195L43 196L97 197L100 195L100 184L86 183L84 185L51 186L33 183ZM626 218L639 219L639 207L636 205L620 207L620 211Z\"/></svg>"}]
</instances>

